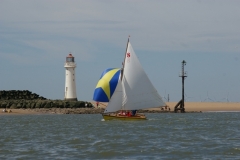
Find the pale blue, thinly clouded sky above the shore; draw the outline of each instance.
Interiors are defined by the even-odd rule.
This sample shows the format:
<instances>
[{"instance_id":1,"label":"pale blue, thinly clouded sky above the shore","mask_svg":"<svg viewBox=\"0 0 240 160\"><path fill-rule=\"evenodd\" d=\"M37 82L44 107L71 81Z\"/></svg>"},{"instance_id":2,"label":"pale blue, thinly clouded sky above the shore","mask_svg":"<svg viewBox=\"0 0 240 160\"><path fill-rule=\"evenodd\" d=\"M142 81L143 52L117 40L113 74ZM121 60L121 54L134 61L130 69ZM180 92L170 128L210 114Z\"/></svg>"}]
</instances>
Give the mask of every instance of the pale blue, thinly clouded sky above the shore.
<instances>
[{"instance_id":1,"label":"pale blue, thinly clouded sky above the shore","mask_svg":"<svg viewBox=\"0 0 240 160\"><path fill-rule=\"evenodd\" d=\"M66 56L77 98L122 66L127 38L164 100L240 102L238 0L1 0L0 90L64 99Z\"/></svg>"}]
</instances>

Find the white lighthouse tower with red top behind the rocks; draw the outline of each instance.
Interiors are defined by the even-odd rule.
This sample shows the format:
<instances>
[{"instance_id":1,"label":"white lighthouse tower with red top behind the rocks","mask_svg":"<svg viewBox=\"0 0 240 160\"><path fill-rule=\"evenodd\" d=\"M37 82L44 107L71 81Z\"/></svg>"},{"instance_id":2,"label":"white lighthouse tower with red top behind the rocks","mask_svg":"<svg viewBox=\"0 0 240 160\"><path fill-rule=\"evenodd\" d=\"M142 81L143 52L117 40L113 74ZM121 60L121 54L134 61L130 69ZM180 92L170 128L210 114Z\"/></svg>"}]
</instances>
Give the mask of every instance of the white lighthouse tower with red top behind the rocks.
<instances>
[{"instance_id":1,"label":"white lighthouse tower with red top behind the rocks","mask_svg":"<svg viewBox=\"0 0 240 160\"><path fill-rule=\"evenodd\" d=\"M74 57L72 54L68 54L64 67L66 68L66 79L65 79L65 100L77 101L76 93L76 79L75 79L75 68Z\"/></svg>"}]
</instances>

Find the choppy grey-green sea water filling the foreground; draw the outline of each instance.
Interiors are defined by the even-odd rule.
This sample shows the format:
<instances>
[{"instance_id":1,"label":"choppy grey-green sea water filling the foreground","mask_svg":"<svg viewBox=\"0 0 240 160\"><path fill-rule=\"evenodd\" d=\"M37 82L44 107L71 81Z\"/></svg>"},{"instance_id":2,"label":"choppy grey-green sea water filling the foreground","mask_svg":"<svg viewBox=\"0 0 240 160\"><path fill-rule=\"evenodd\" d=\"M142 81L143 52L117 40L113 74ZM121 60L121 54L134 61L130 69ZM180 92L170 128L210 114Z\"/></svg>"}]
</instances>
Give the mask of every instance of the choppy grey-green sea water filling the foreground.
<instances>
[{"instance_id":1,"label":"choppy grey-green sea water filling the foreground","mask_svg":"<svg viewBox=\"0 0 240 160\"><path fill-rule=\"evenodd\" d=\"M0 159L240 159L240 112L0 116Z\"/></svg>"}]
</instances>

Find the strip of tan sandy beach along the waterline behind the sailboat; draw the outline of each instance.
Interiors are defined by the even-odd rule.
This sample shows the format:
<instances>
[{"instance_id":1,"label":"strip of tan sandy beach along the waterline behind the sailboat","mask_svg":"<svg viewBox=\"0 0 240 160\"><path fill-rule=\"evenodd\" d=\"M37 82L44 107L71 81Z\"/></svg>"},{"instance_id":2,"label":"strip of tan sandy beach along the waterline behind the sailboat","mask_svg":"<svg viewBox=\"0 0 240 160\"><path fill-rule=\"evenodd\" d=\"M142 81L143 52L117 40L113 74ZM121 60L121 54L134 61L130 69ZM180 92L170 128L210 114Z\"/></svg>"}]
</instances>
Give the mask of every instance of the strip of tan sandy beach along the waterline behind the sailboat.
<instances>
[{"instance_id":1,"label":"strip of tan sandy beach along the waterline behind the sailboat","mask_svg":"<svg viewBox=\"0 0 240 160\"><path fill-rule=\"evenodd\" d=\"M94 106L95 103L93 103ZM171 111L174 110L177 102L167 102ZM37 115L37 114L89 114L100 113L105 108L106 103L100 104L99 108L41 108L41 109L11 109L11 113L3 113L1 108L0 115ZM148 110L160 111L161 108L151 108ZM185 102L186 112L240 112L240 102Z\"/></svg>"}]
</instances>

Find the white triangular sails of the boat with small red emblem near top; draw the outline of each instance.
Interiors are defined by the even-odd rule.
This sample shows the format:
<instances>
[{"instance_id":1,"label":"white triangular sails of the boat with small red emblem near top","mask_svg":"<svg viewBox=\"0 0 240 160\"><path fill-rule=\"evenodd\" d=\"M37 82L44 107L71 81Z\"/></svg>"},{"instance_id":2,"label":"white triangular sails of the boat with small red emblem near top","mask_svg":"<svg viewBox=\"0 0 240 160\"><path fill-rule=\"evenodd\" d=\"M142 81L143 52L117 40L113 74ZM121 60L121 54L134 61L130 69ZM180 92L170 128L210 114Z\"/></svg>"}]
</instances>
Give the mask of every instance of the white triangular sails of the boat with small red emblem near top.
<instances>
[{"instance_id":1,"label":"white triangular sails of the boat with small red emblem near top","mask_svg":"<svg viewBox=\"0 0 240 160\"><path fill-rule=\"evenodd\" d=\"M123 78L120 77L105 113L165 106L143 70L130 42L125 54Z\"/></svg>"}]
</instances>

